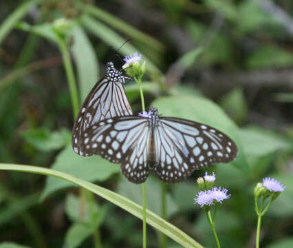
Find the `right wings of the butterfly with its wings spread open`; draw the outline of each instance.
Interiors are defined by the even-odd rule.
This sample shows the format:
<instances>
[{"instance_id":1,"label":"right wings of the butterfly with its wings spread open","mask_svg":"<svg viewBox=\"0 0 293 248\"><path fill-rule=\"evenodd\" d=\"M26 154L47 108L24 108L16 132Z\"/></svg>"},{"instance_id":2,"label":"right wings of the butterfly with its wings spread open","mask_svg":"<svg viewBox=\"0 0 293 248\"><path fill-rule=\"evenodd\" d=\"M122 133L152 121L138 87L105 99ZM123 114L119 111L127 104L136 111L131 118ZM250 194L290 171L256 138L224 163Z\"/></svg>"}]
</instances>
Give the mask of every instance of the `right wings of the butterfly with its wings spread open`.
<instances>
[{"instance_id":1,"label":"right wings of the butterfly with its wings spread open","mask_svg":"<svg viewBox=\"0 0 293 248\"><path fill-rule=\"evenodd\" d=\"M158 178L179 183L195 169L214 163L228 163L237 155L237 146L213 127L162 117L155 130L155 167Z\"/></svg>"}]
</instances>

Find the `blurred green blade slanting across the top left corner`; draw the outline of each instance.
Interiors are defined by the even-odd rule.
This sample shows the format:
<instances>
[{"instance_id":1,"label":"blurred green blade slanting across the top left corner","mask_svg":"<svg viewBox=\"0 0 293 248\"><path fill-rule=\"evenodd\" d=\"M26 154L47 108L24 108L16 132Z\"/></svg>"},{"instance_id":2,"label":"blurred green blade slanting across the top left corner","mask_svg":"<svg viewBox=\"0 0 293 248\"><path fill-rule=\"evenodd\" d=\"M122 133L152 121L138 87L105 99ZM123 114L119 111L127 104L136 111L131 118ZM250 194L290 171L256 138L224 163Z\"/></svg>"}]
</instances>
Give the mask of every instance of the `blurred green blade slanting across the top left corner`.
<instances>
[{"instance_id":1,"label":"blurred green blade slanting across the top left corner","mask_svg":"<svg viewBox=\"0 0 293 248\"><path fill-rule=\"evenodd\" d=\"M19 5L8 18L6 18L3 23L0 25L0 45L3 39L5 39L6 35L14 28L15 23L19 21L21 18L28 13L28 11L33 8L37 3L41 0L30 0L23 1L21 5Z\"/></svg>"}]
</instances>

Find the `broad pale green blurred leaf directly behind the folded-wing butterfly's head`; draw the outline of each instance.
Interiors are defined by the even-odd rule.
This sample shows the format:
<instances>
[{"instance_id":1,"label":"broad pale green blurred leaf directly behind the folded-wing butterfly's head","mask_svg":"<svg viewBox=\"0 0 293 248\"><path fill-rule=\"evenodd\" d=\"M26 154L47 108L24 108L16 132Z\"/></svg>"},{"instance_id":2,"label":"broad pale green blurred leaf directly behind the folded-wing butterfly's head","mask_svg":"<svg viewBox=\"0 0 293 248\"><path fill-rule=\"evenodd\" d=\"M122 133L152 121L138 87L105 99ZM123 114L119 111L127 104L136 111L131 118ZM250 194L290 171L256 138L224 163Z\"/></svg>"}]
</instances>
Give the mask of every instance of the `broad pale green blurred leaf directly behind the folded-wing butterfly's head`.
<instances>
[{"instance_id":1,"label":"broad pale green blurred leaf directly behind the folded-wing butterfly's head","mask_svg":"<svg viewBox=\"0 0 293 248\"><path fill-rule=\"evenodd\" d=\"M78 25L73 30L73 39L74 45L72 45L71 50L76 62L80 99L83 101L99 80L98 60L87 34Z\"/></svg>"}]
</instances>

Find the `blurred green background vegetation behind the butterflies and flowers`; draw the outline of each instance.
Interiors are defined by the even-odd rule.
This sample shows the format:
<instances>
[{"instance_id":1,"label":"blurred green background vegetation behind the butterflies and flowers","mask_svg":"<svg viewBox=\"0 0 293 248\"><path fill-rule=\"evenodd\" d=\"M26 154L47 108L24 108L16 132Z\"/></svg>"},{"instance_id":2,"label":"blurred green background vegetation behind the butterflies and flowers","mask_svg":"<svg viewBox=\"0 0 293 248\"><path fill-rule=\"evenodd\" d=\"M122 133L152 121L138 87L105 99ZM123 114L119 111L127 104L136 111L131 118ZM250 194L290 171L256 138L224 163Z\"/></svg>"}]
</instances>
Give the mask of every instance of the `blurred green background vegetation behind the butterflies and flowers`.
<instances>
[{"instance_id":1,"label":"blurred green background vegetation behind the butterflies and flowers","mask_svg":"<svg viewBox=\"0 0 293 248\"><path fill-rule=\"evenodd\" d=\"M253 187L265 176L287 188L263 218L261 244L293 247L292 14L290 0L1 1L0 162L67 172L141 204L141 187L123 178L120 165L71 147L74 76L81 102L107 61L121 68L116 50L131 39L119 53L139 51L146 60L146 106L213 125L237 142L235 161L208 169L232 194L217 214L223 247L254 247ZM138 86L129 81L125 90L140 112ZM167 214L215 247L193 205L203 174L168 185ZM9 171L0 178L1 248L141 246L141 220L73 183ZM150 176L146 205L158 215L160 189ZM148 227L148 247L160 239ZM168 239L168 247L180 245Z\"/></svg>"}]
</instances>

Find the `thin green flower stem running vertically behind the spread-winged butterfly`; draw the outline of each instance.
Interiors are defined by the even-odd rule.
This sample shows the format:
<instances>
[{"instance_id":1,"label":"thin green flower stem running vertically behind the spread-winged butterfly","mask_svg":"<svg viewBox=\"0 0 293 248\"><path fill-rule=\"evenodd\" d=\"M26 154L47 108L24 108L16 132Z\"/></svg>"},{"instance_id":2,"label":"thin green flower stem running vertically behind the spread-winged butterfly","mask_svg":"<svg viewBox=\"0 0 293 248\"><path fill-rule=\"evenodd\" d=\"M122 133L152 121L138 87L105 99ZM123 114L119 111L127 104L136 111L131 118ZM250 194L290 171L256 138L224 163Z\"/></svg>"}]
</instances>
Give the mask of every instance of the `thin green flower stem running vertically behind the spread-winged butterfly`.
<instances>
[{"instance_id":1,"label":"thin green flower stem running vertically behind the spread-winged butterfly","mask_svg":"<svg viewBox=\"0 0 293 248\"><path fill-rule=\"evenodd\" d=\"M134 80L140 87L140 99L142 100L142 112L145 110L144 106L144 92L142 91L142 77L135 77ZM146 248L146 185L142 183L142 247Z\"/></svg>"}]
</instances>

